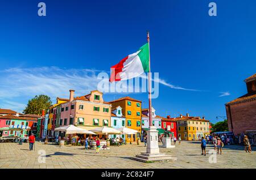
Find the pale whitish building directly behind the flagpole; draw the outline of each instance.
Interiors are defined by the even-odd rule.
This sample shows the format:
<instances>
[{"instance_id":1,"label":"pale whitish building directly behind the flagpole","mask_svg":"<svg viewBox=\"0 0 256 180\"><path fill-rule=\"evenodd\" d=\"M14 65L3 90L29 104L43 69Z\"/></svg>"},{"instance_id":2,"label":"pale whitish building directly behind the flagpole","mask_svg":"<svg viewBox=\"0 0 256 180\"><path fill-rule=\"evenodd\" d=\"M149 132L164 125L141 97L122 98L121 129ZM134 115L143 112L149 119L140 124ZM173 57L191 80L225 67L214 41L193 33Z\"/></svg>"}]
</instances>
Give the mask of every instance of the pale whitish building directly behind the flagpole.
<instances>
[{"instance_id":1,"label":"pale whitish building directly behind the flagpole","mask_svg":"<svg viewBox=\"0 0 256 180\"><path fill-rule=\"evenodd\" d=\"M147 134L149 124L149 112L148 109L142 109L142 119L141 119L141 141L144 141L144 137ZM162 117L155 114L155 109L152 107L152 125L156 127L156 130L158 130L158 134L161 135L164 133L162 126Z\"/></svg>"}]
</instances>

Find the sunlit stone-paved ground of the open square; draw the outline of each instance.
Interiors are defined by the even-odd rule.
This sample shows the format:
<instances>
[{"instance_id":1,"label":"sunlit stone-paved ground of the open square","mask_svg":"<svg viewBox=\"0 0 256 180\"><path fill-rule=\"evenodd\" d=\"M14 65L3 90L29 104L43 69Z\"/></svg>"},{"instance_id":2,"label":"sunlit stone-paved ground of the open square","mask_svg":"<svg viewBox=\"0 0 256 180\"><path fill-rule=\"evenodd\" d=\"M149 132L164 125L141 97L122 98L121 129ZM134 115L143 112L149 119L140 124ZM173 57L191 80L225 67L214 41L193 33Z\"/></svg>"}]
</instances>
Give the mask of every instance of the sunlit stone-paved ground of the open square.
<instances>
[{"instance_id":1,"label":"sunlit stone-paved ground of the open square","mask_svg":"<svg viewBox=\"0 0 256 180\"><path fill-rule=\"evenodd\" d=\"M209 163L210 154L201 155L200 142L181 142L175 148L160 148L160 152L177 157L177 161L143 163L130 157L146 151L144 144L111 146L109 150L85 150L81 146L59 147L36 142L35 150L28 151L28 143L0 143L0 168L256 168L256 153L246 153L242 146L226 145L217 163ZM46 151L46 163L38 162L38 151ZM213 149L207 146L207 152ZM255 147L253 147L253 150Z\"/></svg>"}]
</instances>

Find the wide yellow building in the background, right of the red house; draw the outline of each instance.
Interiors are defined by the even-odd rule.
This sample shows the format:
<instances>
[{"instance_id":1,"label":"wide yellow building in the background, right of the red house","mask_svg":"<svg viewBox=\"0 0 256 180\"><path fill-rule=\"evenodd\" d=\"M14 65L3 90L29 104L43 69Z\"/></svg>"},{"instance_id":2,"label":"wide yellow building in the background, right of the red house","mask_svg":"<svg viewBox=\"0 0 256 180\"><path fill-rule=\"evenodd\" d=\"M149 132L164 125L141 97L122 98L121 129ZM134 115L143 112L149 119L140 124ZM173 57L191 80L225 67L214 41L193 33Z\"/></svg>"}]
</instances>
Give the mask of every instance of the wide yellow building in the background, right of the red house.
<instances>
[{"instance_id":1,"label":"wide yellow building in the background, right of the red house","mask_svg":"<svg viewBox=\"0 0 256 180\"><path fill-rule=\"evenodd\" d=\"M189 114L175 118L177 121L177 136L182 140L199 140L210 134L209 120L204 117L189 117Z\"/></svg>"}]
</instances>

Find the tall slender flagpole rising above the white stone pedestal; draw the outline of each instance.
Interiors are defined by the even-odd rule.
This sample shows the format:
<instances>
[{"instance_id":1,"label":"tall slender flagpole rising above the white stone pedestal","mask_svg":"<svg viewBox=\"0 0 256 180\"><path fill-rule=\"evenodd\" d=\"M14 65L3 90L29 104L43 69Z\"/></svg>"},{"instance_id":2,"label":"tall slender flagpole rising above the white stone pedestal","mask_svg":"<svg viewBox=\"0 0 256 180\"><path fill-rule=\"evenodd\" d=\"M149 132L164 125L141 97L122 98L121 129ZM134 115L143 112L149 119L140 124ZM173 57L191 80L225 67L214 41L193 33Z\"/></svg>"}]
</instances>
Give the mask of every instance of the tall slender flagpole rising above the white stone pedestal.
<instances>
[{"instance_id":1,"label":"tall slender flagpole rising above the white stone pedestal","mask_svg":"<svg viewBox=\"0 0 256 180\"><path fill-rule=\"evenodd\" d=\"M148 42L148 115L149 115L149 126L152 126L152 103L151 103L151 71L150 71L150 37L149 31L147 31L147 42Z\"/></svg>"}]
</instances>

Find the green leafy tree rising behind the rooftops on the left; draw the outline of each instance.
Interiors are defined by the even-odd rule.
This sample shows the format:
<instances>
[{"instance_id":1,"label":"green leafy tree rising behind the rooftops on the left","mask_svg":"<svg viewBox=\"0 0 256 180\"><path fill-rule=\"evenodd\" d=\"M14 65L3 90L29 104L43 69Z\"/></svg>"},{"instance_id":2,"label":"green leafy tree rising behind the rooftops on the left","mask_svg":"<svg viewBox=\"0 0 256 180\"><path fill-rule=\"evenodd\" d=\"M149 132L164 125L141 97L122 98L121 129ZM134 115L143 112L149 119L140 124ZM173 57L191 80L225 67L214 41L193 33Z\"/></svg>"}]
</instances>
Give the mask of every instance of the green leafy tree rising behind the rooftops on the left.
<instances>
[{"instance_id":1,"label":"green leafy tree rising behind the rooftops on the left","mask_svg":"<svg viewBox=\"0 0 256 180\"><path fill-rule=\"evenodd\" d=\"M43 109L48 109L51 106L52 101L49 96L39 95L35 96L31 100L28 100L26 108L23 110L24 114L38 114L42 115Z\"/></svg>"}]
</instances>

